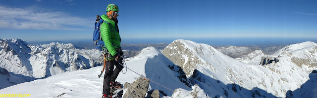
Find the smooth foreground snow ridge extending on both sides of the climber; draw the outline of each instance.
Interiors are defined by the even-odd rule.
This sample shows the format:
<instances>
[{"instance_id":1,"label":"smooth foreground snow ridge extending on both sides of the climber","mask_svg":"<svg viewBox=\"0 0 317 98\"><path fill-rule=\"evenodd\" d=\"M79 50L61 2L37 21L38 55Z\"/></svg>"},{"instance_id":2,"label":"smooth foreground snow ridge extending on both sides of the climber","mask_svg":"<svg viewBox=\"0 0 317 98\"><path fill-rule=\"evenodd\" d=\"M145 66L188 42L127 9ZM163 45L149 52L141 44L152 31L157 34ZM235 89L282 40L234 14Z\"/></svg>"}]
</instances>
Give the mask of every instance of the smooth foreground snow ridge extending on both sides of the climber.
<instances>
[{"instance_id":1,"label":"smooth foreground snow ridge extending on both sides of the climber","mask_svg":"<svg viewBox=\"0 0 317 98\"><path fill-rule=\"evenodd\" d=\"M154 47L145 48L134 58L128 58L126 64L135 72L169 89L182 88L182 90L191 91L190 87L179 80L180 74L168 67L168 65L174 64ZM31 94L32 98L52 98L59 95L62 95L59 98L98 98L102 95L103 87L103 78L98 78L101 70L102 66L97 66L85 70L64 72L45 79L1 89L0 94ZM123 68L123 72L125 72L125 68ZM126 74L120 72L116 81L122 84L132 83L138 77L138 74L127 70ZM150 82L149 88L163 91L168 96L173 94L173 91L154 82ZM199 94L206 96L204 92Z\"/></svg>"}]
</instances>

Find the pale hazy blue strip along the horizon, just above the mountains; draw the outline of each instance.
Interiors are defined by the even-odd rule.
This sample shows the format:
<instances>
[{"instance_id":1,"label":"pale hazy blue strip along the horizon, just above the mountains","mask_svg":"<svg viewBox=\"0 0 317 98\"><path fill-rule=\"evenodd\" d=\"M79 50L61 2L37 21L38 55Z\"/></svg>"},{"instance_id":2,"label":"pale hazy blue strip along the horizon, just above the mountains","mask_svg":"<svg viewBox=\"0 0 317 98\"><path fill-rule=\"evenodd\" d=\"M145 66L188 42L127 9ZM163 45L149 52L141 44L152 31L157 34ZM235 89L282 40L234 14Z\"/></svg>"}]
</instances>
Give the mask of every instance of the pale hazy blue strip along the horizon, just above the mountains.
<instances>
[{"instance_id":1,"label":"pale hazy blue strip along the horizon, just above the mountains","mask_svg":"<svg viewBox=\"0 0 317 98\"><path fill-rule=\"evenodd\" d=\"M2 39L2 38L0 38ZM20 39L20 38L19 38ZM317 39L315 38L285 38L285 37L260 37L260 38L252 38L252 37L213 37L213 38L126 38L122 39L121 43L126 44L151 44L151 43L171 43L177 39L185 39L191 40L197 43L205 43L209 45L234 45L234 46L243 46L243 45L288 45L301 43L306 41L312 41L317 43ZM23 39L22 39L23 40ZM52 41L27 41L31 44L39 44L39 43L51 43L51 42L63 42L63 43L74 43L74 42L82 42L82 43L92 43L92 39L78 39L78 40L52 40ZM93 44L93 43L92 43Z\"/></svg>"}]
</instances>

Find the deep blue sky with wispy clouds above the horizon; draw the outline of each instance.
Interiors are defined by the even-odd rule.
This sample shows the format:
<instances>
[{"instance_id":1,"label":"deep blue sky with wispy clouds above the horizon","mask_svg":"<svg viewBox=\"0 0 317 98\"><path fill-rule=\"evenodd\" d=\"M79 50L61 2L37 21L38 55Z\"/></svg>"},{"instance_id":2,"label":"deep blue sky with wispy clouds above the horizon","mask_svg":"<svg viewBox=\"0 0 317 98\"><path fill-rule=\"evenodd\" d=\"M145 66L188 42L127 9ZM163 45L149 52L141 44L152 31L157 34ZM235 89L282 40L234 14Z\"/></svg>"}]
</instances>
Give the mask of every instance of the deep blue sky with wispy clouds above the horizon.
<instances>
[{"instance_id":1,"label":"deep blue sky with wispy clouds above the horizon","mask_svg":"<svg viewBox=\"0 0 317 98\"><path fill-rule=\"evenodd\" d=\"M316 0L0 0L0 38L92 39L109 3L122 38L317 38Z\"/></svg>"}]
</instances>

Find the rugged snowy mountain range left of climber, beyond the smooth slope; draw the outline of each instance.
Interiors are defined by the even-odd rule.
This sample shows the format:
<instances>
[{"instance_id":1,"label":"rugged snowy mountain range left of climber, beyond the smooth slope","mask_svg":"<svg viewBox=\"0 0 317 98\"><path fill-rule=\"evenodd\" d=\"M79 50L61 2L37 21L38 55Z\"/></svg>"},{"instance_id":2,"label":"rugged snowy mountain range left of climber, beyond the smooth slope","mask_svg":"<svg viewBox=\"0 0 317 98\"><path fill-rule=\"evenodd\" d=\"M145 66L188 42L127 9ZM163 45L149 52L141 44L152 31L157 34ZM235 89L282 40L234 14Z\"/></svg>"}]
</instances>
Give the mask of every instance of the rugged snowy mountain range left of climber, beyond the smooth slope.
<instances>
[{"instance_id":1,"label":"rugged snowy mountain range left of climber, beyond the smooth slope","mask_svg":"<svg viewBox=\"0 0 317 98\"><path fill-rule=\"evenodd\" d=\"M72 44L32 45L21 39L0 39L0 67L9 72L6 82L10 84L0 88L100 65L98 55L98 50L80 50Z\"/></svg>"}]
</instances>

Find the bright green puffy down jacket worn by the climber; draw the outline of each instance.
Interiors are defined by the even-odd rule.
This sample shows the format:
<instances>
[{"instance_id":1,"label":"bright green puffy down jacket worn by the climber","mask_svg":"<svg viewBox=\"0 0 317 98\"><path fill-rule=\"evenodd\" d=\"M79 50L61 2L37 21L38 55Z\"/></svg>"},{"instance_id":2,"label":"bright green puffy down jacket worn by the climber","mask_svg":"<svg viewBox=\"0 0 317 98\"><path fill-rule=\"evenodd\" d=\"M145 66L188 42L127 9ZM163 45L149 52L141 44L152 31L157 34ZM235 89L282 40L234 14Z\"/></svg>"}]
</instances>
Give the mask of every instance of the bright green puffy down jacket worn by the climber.
<instances>
[{"instance_id":1,"label":"bright green puffy down jacket worn by the climber","mask_svg":"<svg viewBox=\"0 0 317 98\"><path fill-rule=\"evenodd\" d=\"M114 56L117 54L115 49L120 48L120 34L115 28L115 23L113 20L110 20L106 15L102 15L101 18L106 21L100 26L101 37L106 45L104 48L109 51L111 56ZM110 25L107 22L110 23Z\"/></svg>"}]
</instances>

